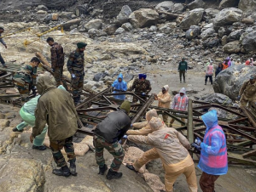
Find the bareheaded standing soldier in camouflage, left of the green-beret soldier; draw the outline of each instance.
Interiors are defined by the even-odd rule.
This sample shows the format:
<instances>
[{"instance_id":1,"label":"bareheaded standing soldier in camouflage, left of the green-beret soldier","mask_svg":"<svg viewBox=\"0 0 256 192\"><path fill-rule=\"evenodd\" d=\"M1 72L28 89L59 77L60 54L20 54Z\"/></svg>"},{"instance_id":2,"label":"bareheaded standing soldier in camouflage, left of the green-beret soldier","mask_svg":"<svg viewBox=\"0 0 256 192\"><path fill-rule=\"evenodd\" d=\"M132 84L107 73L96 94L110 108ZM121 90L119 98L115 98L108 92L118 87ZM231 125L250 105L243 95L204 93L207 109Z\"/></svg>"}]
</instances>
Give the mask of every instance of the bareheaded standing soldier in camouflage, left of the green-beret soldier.
<instances>
[{"instance_id":1,"label":"bareheaded standing soldier in camouflage, left of the green-beret soldier","mask_svg":"<svg viewBox=\"0 0 256 192\"><path fill-rule=\"evenodd\" d=\"M61 78L63 75L64 66L64 52L61 44L55 42L52 37L48 37L46 42L48 42L50 48L50 59L51 59L51 69L54 73L56 87L64 83L64 87L67 88L65 81L61 83Z\"/></svg>"}]
</instances>

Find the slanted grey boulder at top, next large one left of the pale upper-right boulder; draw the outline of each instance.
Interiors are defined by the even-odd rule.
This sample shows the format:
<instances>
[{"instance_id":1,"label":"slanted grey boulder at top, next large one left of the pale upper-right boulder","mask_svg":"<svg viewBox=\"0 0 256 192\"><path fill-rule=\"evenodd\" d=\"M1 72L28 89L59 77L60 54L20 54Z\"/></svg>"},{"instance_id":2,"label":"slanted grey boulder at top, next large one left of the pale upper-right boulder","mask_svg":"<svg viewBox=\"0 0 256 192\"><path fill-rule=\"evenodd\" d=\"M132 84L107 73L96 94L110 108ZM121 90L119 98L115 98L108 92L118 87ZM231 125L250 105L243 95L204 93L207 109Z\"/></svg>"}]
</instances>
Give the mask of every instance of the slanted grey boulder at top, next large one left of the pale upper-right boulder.
<instances>
[{"instance_id":1,"label":"slanted grey boulder at top, next large one left of the pale upper-right boulder","mask_svg":"<svg viewBox=\"0 0 256 192\"><path fill-rule=\"evenodd\" d=\"M191 25L198 25L202 19L204 11L203 8L195 8L194 10L189 11L189 14L186 14L179 26L183 29L189 29Z\"/></svg>"}]
</instances>

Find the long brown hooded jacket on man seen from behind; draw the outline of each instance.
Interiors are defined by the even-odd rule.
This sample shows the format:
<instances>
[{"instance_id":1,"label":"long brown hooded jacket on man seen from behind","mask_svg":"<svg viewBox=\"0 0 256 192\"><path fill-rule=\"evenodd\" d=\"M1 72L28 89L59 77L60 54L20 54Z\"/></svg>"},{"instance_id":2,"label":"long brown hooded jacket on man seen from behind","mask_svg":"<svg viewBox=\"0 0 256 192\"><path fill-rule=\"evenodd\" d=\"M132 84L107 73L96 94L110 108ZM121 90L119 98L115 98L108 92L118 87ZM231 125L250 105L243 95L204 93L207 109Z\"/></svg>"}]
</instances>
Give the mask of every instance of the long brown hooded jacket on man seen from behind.
<instances>
[{"instance_id":1,"label":"long brown hooded jacket on man seen from behind","mask_svg":"<svg viewBox=\"0 0 256 192\"><path fill-rule=\"evenodd\" d=\"M70 93L55 88L49 76L39 77L37 87L41 97L35 111L36 122L32 136L42 133L46 123L49 140L63 140L73 136L78 129L78 114Z\"/></svg>"}]
</instances>

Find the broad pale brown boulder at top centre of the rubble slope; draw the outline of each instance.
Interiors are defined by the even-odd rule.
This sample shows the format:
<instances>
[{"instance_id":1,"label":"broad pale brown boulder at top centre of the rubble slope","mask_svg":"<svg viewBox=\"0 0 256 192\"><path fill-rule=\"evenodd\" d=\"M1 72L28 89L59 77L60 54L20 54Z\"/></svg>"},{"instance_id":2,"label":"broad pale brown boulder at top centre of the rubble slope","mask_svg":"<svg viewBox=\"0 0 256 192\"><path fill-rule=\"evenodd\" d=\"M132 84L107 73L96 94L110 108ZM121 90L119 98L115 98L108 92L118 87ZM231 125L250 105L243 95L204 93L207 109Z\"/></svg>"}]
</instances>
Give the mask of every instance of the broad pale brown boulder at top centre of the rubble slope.
<instances>
[{"instance_id":1,"label":"broad pale brown boulder at top centre of the rubble slope","mask_svg":"<svg viewBox=\"0 0 256 192\"><path fill-rule=\"evenodd\" d=\"M139 27L146 27L150 25L155 25L159 20L159 14L152 8L141 8L134 11L129 18L133 20L132 23L136 22Z\"/></svg>"}]
</instances>

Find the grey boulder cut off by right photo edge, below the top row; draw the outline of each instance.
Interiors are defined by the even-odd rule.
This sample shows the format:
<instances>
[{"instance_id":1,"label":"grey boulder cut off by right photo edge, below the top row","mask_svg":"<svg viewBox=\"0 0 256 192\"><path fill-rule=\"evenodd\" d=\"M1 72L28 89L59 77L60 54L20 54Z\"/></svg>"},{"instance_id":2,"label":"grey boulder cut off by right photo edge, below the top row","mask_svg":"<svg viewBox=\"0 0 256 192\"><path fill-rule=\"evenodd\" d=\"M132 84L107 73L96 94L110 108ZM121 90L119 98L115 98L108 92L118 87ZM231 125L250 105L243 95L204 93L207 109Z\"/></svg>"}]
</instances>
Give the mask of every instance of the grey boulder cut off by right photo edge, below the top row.
<instances>
[{"instance_id":1,"label":"grey boulder cut off by right photo edge, below the top row","mask_svg":"<svg viewBox=\"0 0 256 192\"><path fill-rule=\"evenodd\" d=\"M256 31L249 32L243 37L241 42L247 54L255 54L256 52Z\"/></svg>"}]
</instances>

